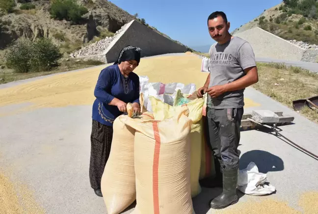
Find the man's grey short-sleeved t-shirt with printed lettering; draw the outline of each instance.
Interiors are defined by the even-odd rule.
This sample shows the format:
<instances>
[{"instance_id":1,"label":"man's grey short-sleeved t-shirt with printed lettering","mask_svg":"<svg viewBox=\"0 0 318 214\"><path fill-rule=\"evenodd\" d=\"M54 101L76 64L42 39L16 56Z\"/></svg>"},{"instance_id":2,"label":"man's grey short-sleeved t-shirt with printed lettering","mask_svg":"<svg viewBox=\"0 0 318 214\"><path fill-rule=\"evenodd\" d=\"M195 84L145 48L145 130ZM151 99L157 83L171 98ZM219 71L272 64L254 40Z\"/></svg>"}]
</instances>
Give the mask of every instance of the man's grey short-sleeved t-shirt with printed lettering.
<instances>
[{"instance_id":1,"label":"man's grey short-sleeved t-shirt with printed lettering","mask_svg":"<svg viewBox=\"0 0 318 214\"><path fill-rule=\"evenodd\" d=\"M225 44L213 44L210 54L210 84L223 85L243 77L244 69L256 66L255 55L251 45L234 36ZM244 89L230 91L212 98L208 95L207 106L210 108L240 108L244 106Z\"/></svg>"}]
</instances>

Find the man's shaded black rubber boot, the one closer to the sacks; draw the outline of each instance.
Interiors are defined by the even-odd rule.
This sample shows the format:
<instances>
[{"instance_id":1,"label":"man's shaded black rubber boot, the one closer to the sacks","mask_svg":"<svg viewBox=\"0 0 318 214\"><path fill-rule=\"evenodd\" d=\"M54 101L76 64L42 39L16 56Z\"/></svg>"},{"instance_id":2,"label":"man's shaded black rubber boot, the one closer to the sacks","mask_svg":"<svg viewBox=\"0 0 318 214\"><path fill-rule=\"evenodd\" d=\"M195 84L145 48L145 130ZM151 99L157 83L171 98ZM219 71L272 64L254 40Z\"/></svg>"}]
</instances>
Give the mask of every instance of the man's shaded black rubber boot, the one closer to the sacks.
<instances>
[{"instance_id":1,"label":"man's shaded black rubber boot, the one closer to the sacks","mask_svg":"<svg viewBox=\"0 0 318 214\"><path fill-rule=\"evenodd\" d=\"M223 186L223 162L222 160L218 160L214 158L214 166L215 166L215 176L204 178L199 181L201 187L207 188L215 188L215 187L222 187Z\"/></svg>"}]
</instances>

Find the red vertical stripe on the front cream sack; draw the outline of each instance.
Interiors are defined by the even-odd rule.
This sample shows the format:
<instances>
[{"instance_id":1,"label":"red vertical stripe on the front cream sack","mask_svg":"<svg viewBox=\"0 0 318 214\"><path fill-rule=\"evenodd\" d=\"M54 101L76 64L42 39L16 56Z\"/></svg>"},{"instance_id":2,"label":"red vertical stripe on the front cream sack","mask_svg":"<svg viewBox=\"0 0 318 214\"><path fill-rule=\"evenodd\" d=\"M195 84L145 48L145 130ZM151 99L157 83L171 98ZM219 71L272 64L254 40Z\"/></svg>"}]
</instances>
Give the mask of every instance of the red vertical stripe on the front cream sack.
<instances>
[{"instance_id":1,"label":"red vertical stripe on the front cream sack","mask_svg":"<svg viewBox=\"0 0 318 214\"><path fill-rule=\"evenodd\" d=\"M153 165L153 197L154 197L154 214L159 214L159 154L160 154L160 135L158 123L153 123L155 136L155 152Z\"/></svg>"}]
</instances>

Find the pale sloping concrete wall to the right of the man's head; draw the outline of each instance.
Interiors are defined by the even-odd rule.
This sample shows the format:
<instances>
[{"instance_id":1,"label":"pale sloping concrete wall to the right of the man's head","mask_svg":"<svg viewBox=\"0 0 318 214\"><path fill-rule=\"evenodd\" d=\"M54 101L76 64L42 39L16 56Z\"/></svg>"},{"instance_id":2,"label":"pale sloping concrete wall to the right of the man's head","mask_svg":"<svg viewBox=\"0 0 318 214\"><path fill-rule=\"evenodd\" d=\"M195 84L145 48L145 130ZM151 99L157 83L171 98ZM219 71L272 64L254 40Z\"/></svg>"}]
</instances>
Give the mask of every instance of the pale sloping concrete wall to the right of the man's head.
<instances>
[{"instance_id":1,"label":"pale sloping concrete wall to the right of the man's head","mask_svg":"<svg viewBox=\"0 0 318 214\"><path fill-rule=\"evenodd\" d=\"M248 41L253 47L256 57L305 62L317 62L318 60L317 50L300 48L260 27L254 27L234 35Z\"/></svg>"}]
</instances>

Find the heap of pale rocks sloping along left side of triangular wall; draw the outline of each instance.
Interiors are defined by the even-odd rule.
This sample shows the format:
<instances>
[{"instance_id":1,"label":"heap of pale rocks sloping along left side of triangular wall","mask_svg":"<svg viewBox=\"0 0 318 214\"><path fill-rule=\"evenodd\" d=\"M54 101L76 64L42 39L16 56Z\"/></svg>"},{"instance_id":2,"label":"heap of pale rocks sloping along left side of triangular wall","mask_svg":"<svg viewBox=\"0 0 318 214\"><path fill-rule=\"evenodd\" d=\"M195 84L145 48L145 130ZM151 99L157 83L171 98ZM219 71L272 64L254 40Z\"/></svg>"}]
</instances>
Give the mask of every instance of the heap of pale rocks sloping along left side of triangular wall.
<instances>
[{"instance_id":1,"label":"heap of pale rocks sloping along left side of triangular wall","mask_svg":"<svg viewBox=\"0 0 318 214\"><path fill-rule=\"evenodd\" d=\"M105 39L97 41L91 45L84 46L79 51L70 54L70 56L72 58L76 58L80 56L91 56L91 55L103 54L103 52L107 49L109 44L114 40L114 38L125 29L126 25L124 25L119 30L117 30L113 36L111 37L107 36Z\"/></svg>"}]
</instances>

